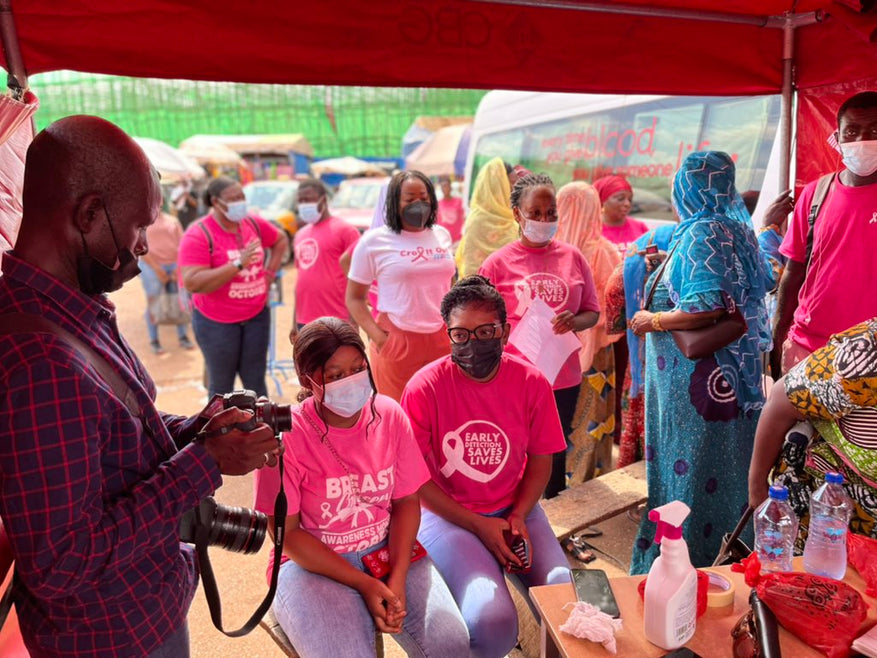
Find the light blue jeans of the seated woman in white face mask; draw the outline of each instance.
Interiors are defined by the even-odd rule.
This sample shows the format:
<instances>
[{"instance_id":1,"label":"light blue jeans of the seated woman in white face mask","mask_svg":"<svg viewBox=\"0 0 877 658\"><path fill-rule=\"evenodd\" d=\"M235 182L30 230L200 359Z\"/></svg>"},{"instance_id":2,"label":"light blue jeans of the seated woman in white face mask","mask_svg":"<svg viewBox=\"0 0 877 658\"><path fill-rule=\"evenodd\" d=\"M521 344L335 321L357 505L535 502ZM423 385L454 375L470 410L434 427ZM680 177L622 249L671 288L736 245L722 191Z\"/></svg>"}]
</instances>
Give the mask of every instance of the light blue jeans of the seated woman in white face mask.
<instances>
[{"instance_id":1,"label":"light blue jeans of the seated woman in white face mask","mask_svg":"<svg viewBox=\"0 0 877 658\"><path fill-rule=\"evenodd\" d=\"M341 557L365 571L362 556ZM407 616L394 639L409 656L468 655L466 624L451 593L428 557L411 563L405 582ZM375 655L375 625L359 592L312 573L293 561L280 569L274 615L302 658L364 658Z\"/></svg>"}]
</instances>

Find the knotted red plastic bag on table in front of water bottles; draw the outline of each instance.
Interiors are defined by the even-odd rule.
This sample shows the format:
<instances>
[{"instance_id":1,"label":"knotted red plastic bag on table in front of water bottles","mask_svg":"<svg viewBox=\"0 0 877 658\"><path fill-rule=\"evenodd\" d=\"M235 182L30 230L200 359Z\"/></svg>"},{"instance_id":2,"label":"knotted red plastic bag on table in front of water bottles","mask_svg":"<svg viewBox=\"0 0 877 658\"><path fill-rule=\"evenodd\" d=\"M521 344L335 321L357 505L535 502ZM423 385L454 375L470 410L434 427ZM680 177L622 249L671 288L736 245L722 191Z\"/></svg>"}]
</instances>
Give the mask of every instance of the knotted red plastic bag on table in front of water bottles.
<instances>
[{"instance_id":1,"label":"knotted red plastic bag on table in front of water bottles","mask_svg":"<svg viewBox=\"0 0 877 658\"><path fill-rule=\"evenodd\" d=\"M854 588L809 573L762 575L754 553L731 569L746 574L746 583L755 587L787 630L829 658L850 655L850 645L868 615L868 604Z\"/></svg>"}]
</instances>

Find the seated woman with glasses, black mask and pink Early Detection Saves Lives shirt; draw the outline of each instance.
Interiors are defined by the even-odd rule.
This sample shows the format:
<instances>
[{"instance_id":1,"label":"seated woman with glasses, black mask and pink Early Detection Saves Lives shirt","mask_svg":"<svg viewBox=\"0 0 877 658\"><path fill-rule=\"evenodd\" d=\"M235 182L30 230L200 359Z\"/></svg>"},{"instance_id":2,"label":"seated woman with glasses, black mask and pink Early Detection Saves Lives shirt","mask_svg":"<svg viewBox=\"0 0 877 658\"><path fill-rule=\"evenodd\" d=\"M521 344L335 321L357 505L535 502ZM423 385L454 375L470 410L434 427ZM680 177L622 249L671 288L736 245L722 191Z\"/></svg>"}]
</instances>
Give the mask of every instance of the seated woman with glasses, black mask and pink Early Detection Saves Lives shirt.
<instances>
[{"instance_id":1,"label":"seated woman with glasses, black mask and pink Early Detection Saves Lives shirt","mask_svg":"<svg viewBox=\"0 0 877 658\"><path fill-rule=\"evenodd\" d=\"M402 395L432 476L420 490L417 537L463 613L471 655L505 656L518 616L503 570L524 587L570 581L539 505L565 442L548 380L503 352L505 302L490 282L466 277L441 314L451 355L422 368Z\"/></svg>"}]
</instances>

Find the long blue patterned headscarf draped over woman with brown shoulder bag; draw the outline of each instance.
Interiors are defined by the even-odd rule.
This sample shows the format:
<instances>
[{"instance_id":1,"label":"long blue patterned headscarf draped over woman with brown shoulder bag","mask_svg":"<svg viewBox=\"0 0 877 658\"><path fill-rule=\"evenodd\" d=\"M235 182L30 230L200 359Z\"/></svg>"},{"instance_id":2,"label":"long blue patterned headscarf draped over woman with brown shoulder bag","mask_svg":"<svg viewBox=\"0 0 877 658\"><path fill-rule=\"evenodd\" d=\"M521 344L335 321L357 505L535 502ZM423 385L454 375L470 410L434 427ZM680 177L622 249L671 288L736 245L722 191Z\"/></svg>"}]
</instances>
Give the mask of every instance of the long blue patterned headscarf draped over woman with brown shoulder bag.
<instances>
[{"instance_id":1,"label":"long blue patterned headscarf draped over woman with brown shoulder bag","mask_svg":"<svg viewBox=\"0 0 877 658\"><path fill-rule=\"evenodd\" d=\"M759 409L761 354L771 338L764 298L773 273L734 186L734 162L719 151L692 153L676 172L672 199L681 221L664 275L670 300L687 313L740 308L746 334L715 357L743 410Z\"/></svg>"}]
</instances>

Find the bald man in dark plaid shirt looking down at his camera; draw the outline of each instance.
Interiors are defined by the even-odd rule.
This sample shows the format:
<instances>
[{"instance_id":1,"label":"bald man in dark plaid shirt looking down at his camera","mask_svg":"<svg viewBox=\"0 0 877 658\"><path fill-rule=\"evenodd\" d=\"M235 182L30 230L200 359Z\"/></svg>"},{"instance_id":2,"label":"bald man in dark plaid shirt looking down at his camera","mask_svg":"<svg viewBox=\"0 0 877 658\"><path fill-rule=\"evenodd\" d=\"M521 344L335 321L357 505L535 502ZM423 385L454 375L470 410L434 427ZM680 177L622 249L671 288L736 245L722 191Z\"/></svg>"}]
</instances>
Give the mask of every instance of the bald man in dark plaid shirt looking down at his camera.
<instances>
[{"instance_id":1,"label":"bald man in dark plaid shirt looking down at his camera","mask_svg":"<svg viewBox=\"0 0 877 658\"><path fill-rule=\"evenodd\" d=\"M0 517L34 657L188 656L180 517L280 452L268 426L241 428L248 411L159 412L119 334L104 293L139 272L160 204L146 156L102 119L61 119L28 149L0 277Z\"/></svg>"}]
</instances>

